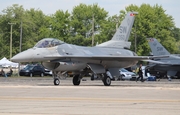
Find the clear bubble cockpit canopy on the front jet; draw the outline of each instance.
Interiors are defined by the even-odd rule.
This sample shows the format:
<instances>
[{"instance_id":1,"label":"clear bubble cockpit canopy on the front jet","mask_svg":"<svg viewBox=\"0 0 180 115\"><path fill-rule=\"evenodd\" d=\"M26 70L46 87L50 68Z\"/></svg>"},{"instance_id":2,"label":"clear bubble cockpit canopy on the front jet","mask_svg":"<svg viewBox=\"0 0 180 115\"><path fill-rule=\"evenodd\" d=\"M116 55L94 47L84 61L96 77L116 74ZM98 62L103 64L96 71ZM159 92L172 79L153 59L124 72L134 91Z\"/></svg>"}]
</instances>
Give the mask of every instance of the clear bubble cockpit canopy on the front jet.
<instances>
[{"instance_id":1,"label":"clear bubble cockpit canopy on the front jet","mask_svg":"<svg viewBox=\"0 0 180 115\"><path fill-rule=\"evenodd\" d=\"M47 48L47 47L54 47L61 44L64 44L64 42L61 40L58 40L55 38L44 38L40 40L34 47Z\"/></svg>"}]
</instances>

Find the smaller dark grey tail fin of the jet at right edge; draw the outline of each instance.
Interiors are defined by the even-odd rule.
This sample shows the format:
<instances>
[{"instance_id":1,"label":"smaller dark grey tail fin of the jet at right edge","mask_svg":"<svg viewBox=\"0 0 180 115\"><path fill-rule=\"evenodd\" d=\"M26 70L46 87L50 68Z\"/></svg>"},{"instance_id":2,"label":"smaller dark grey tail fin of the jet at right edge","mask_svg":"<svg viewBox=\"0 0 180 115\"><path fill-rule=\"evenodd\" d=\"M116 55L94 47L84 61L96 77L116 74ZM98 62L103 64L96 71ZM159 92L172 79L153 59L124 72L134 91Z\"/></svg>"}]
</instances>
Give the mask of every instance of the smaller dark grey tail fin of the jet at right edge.
<instances>
[{"instance_id":1,"label":"smaller dark grey tail fin of the jet at right edge","mask_svg":"<svg viewBox=\"0 0 180 115\"><path fill-rule=\"evenodd\" d=\"M155 38L147 38L148 44L154 56L170 55L170 53Z\"/></svg>"}]
</instances>

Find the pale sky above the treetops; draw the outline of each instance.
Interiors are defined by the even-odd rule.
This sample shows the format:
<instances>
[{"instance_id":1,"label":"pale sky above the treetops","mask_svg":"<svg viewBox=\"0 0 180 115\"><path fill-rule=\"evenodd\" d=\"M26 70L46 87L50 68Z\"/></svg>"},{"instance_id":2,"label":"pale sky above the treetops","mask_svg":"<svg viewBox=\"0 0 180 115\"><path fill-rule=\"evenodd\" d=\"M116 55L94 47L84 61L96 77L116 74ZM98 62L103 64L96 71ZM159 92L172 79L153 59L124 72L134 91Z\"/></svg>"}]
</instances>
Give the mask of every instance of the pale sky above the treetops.
<instances>
[{"instance_id":1,"label":"pale sky above the treetops","mask_svg":"<svg viewBox=\"0 0 180 115\"><path fill-rule=\"evenodd\" d=\"M142 3L161 5L166 14L174 18L175 26L180 28L180 0L0 0L0 12L12 4L22 5L24 9L40 9L45 14L54 14L57 10L72 11L73 7L84 3L92 5L97 3L98 6L104 8L109 15L119 14L120 10L124 10L126 6L135 4L140 6Z\"/></svg>"}]
</instances>

